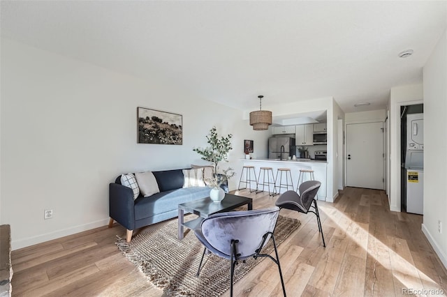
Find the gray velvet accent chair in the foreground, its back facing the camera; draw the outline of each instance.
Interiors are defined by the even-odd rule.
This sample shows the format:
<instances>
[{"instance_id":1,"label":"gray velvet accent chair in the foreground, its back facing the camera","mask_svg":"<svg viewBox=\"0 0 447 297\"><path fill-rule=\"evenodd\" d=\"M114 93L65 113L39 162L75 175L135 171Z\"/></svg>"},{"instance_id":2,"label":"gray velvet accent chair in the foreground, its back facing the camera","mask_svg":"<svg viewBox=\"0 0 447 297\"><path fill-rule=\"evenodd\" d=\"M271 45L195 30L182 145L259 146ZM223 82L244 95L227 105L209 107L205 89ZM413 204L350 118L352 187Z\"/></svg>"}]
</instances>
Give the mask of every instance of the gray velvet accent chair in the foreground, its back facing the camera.
<instances>
[{"instance_id":1,"label":"gray velvet accent chair in the foreground, its back facing the camera","mask_svg":"<svg viewBox=\"0 0 447 297\"><path fill-rule=\"evenodd\" d=\"M203 257L208 250L212 254L230 260L230 296L233 296L233 275L238 261L249 257L268 257L278 266L279 277L284 296L286 289L279 264L277 245L274 241L274 227L277 224L279 208L257 209L252 211L230 211L217 213L205 218L200 228L194 230L198 240L203 243L202 259L197 276L199 276ZM272 239L276 259L270 254L262 254L262 248Z\"/></svg>"}]
</instances>

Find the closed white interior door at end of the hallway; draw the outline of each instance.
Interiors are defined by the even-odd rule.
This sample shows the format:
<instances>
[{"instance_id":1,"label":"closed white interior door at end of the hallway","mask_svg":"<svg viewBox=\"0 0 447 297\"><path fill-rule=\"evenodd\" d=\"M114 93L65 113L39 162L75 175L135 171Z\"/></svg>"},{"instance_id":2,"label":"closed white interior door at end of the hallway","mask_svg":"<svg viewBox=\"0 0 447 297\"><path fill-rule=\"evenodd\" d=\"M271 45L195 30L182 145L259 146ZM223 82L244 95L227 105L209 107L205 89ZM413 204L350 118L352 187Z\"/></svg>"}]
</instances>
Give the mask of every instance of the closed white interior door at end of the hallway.
<instances>
[{"instance_id":1,"label":"closed white interior door at end of the hallway","mask_svg":"<svg viewBox=\"0 0 447 297\"><path fill-rule=\"evenodd\" d=\"M383 190L383 122L346 125L346 185Z\"/></svg>"}]
</instances>

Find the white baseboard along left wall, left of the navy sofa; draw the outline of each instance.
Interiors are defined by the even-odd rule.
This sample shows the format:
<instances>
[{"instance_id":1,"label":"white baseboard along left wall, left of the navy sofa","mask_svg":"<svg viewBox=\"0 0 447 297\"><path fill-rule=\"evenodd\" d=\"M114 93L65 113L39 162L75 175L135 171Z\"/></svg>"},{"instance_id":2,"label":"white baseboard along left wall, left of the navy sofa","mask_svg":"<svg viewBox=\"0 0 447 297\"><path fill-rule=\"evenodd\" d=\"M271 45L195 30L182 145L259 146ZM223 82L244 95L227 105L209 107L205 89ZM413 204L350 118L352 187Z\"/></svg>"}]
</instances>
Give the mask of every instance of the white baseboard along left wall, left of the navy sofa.
<instances>
[{"instance_id":1,"label":"white baseboard along left wall, left of the navy sofa","mask_svg":"<svg viewBox=\"0 0 447 297\"><path fill-rule=\"evenodd\" d=\"M28 238L22 238L18 241L11 241L11 249L17 250L20 248L26 248L30 245L36 245L38 243L43 243L45 241L52 241L53 239L61 238L64 236L76 234L82 231L87 231L90 229L95 229L98 227L103 227L108 224L110 218L104 220L98 220L96 222L90 222L88 224L82 224L75 227L70 227L67 229L61 229L47 234L41 234L38 236L31 236Z\"/></svg>"}]
</instances>

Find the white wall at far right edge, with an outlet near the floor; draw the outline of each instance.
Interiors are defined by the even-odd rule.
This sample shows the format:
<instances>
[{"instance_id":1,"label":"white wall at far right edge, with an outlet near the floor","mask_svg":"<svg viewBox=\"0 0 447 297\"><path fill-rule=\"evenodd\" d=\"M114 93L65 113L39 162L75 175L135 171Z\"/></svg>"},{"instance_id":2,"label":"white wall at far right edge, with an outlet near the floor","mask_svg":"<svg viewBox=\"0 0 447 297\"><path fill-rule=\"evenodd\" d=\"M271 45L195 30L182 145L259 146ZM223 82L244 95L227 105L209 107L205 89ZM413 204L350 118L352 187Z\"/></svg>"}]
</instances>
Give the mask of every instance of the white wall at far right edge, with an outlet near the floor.
<instances>
[{"instance_id":1,"label":"white wall at far right edge, with an outlet near the floor","mask_svg":"<svg viewBox=\"0 0 447 297\"><path fill-rule=\"evenodd\" d=\"M423 69L424 218L423 231L447 267L447 34L441 36ZM438 232L442 222L442 234Z\"/></svg>"}]
</instances>

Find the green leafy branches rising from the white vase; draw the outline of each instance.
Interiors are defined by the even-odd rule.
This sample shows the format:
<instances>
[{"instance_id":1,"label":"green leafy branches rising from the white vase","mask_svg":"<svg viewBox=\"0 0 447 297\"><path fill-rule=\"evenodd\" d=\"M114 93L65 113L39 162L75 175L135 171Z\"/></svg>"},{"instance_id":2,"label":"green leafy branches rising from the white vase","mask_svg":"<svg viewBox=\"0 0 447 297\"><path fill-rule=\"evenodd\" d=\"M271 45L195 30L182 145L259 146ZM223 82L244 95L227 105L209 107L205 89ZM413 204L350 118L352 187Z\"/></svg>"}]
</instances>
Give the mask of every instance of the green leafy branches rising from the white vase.
<instances>
[{"instance_id":1,"label":"green leafy branches rising from the white vase","mask_svg":"<svg viewBox=\"0 0 447 297\"><path fill-rule=\"evenodd\" d=\"M217 128L214 126L206 137L207 143L210 144L210 146L207 148L193 148L193 151L202 155L202 160L213 162L214 172L216 173L219 162L228 162L228 153L233 149L230 142L233 135L228 134L226 137L219 137L219 135L217 135Z\"/></svg>"}]
</instances>

